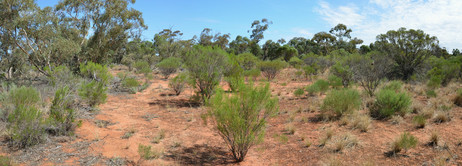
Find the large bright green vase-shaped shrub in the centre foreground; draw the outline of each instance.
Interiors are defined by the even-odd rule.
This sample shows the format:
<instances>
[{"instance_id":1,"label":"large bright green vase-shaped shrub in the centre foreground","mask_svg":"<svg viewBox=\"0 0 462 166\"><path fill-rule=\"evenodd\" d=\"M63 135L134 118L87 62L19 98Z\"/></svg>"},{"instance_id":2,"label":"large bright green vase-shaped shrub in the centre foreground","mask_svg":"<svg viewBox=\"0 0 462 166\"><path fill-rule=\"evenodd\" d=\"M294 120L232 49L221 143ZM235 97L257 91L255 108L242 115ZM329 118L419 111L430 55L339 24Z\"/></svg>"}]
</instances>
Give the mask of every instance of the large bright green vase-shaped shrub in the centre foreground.
<instances>
[{"instance_id":1,"label":"large bright green vase-shaped shrub in the centre foreground","mask_svg":"<svg viewBox=\"0 0 462 166\"><path fill-rule=\"evenodd\" d=\"M219 90L209 104L218 131L238 162L263 139L266 119L278 110L278 101L271 97L269 84L254 87L252 82L241 84L234 95Z\"/></svg>"}]
</instances>

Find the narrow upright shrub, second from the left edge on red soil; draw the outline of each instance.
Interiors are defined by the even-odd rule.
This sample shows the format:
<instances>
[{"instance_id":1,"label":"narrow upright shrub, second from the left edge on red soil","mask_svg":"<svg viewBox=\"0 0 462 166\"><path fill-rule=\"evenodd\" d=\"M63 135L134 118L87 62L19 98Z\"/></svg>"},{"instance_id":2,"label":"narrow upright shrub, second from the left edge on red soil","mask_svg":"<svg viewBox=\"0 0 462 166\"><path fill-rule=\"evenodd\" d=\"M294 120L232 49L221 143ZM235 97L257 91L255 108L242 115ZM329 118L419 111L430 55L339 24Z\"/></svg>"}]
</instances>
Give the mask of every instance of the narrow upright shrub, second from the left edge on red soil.
<instances>
[{"instance_id":1,"label":"narrow upright shrub, second from the left edge on red soil","mask_svg":"<svg viewBox=\"0 0 462 166\"><path fill-rule=\"evenodd\" d=\"M71 135L75 128L73 99L68 87L59 88L51 102L47 131L53 135Z\"/></svg>"}]
</instances>

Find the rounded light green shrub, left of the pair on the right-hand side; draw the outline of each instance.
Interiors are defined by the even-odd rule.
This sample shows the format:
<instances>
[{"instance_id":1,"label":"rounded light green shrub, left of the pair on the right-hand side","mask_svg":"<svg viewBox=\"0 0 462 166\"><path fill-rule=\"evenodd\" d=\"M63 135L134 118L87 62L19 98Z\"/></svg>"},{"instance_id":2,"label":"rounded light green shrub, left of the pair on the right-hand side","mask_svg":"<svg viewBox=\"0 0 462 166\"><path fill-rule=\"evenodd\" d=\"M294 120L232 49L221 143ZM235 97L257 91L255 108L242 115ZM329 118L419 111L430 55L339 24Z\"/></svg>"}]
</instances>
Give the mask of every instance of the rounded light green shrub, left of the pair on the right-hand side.
<instances>
[{"instance_id":1,"label":"rounded light green shrub, left of the pair on the right-hand side","mask_svg":"<svg viewBox=\"0 0 462 166\"><path fill-rule=\"evenodd\" d=\"M361 96L353 89L332 90L327 94L321 106L321 112L327 118L338 118L351 114L361 106Z\"/></svg>"}]
</instances>

